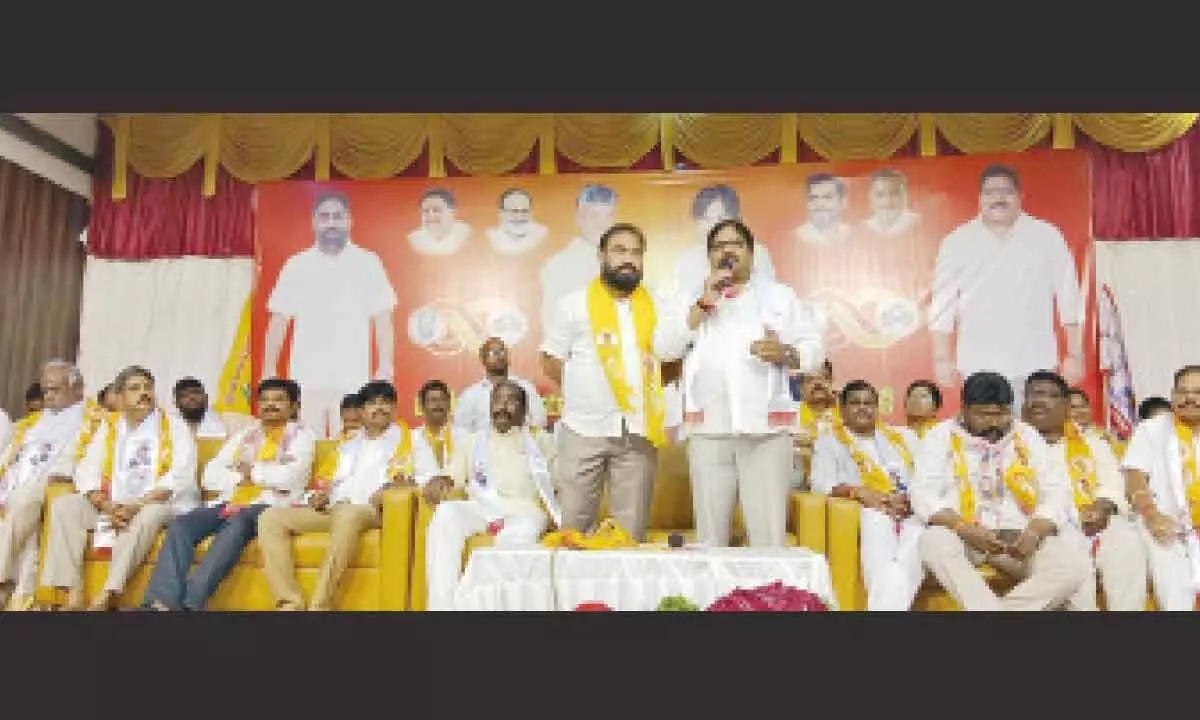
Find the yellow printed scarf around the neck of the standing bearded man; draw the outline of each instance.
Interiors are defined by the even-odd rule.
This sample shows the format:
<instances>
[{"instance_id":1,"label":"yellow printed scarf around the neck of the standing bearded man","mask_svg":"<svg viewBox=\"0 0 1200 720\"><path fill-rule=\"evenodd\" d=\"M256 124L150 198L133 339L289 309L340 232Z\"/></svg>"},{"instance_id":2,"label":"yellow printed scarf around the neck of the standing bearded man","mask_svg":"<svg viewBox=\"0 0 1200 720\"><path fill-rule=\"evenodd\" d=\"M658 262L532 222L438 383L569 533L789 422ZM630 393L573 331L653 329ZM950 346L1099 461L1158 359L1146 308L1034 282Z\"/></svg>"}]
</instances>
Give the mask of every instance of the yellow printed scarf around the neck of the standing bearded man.
<instances>
[{"instance_id":1,"label":"yellow printed scarf around the neck of the standing bearded man","mask_svg":"<svg viewBox=\"0 0 1200 720\"><path fill-rule=\"evenodd\" d=\"M665 408L662 404L662 384L659 377L659 364L654 358L654 325L658 322L654 300L646 288L638 286L629 296L634 311L634 328L637 337L622 337L620 323L617 319L617 299L599 277L588 286L588 318L592 322L592 337L596 346L596 356L604 374L608 379L617 407L625 414L635 414L632 404L634 389L625 382L622 343L636 341L642 358L642 398L644 400L646 439L655 448L667 442L665 427Z\"/></svg>"}]
</instances>

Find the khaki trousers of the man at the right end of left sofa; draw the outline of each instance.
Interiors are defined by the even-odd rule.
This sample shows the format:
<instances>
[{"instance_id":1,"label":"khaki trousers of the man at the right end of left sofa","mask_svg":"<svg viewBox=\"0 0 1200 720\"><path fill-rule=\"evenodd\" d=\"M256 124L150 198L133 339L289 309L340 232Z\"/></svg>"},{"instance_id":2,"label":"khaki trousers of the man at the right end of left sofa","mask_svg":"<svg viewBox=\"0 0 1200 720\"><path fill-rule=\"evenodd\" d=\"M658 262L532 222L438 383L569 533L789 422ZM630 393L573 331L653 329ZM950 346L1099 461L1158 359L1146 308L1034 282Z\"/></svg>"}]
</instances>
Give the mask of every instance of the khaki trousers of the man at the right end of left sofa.
<instances>
[{"instance_id":1,"label":"khaki trousers of the man at the right end of left sofa","mask_svg":"<svg viewBox=\"0 0 1200 720\"><path fill-rule=\"evenodd\" d=\"M329 548L317 575L311 607L329 610L337 583L350 564L364 530L378 528L379 511L370 505L338 503L328 511L312 508L271 508L258 516L258 547L263 552L266 583L276 606L304 607L292 557L292 536L300 533L329 533Z\"/></svg>"}]
</instances>

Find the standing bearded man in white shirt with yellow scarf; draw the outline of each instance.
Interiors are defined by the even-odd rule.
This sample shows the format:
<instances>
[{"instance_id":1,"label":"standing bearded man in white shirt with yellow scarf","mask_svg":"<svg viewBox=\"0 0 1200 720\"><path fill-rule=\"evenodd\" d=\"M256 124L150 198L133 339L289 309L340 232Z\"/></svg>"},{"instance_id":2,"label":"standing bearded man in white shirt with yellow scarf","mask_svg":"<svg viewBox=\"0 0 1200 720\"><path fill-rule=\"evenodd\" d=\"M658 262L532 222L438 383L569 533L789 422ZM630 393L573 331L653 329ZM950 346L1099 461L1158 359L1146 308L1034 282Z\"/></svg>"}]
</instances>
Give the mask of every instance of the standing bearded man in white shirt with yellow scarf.
<instances>
[{"instance_id":1,"label":"standing bearded man in white shirt with yellow scarf","mask_svg":"<svg viewBox=\"0 0 1200 720\"><path fill-rule=\"evenodd\" d=\"M688 334L674 305L642 286L638 227L612 226L598 253L600 275L559 299L541 344L542 372L563 390L563 524L592 530L607 484L612 517L641 541L666 443L660 361L682 358Z\"/></svg>"}]
</instances>

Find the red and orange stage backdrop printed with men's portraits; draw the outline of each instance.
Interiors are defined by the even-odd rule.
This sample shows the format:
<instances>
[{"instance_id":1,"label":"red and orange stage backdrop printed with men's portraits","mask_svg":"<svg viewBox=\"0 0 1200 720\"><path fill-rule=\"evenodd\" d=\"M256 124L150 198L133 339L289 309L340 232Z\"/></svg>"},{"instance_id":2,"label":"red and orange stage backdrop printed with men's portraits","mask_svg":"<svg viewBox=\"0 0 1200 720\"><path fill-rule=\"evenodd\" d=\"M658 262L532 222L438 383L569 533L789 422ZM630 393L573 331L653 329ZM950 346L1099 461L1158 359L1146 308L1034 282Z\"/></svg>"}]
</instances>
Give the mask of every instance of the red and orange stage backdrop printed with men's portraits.
<instances>
[{"instance_id":1,"label":"red and orange stage backdrop printed with men's portraits","mask_svg":"<svg viewBox=\"0 0 1200 720\"><path fill-rule=\"evenodd\" d=\"M980 196L979 176L994 163L1019 174L1021 210L1049 226L1022 218L1019 242L1003 245L968 227L943 248L991 202ZM880 170L890 178L876 179ZM820 173L838 181L810 190ZM725 188L704 190L713 186ZM523 192L505 194L512 188ZM348 200L348 218L336 199L314 206L330 192ZM690 262L700 260L702 233L737 204L776 278L816 301L838 384L871 380L892 420L901 420L910 380L938 377L929 330L938 264L937 282L947 288L994 300L1012 294L986 312L952 317L959 330L976 323L964 362L996 358L1001 368L1020 352L978 332L990 323L1016 323L1031 336L1040 328L1057 337L1062 358L1063 322L1074 316L1082 318L1080 384L1098 397L1090 197L1086 156L1049 150L726 172L265 184L257 197L254 377L276 372L264 367L272 314L280 328L296 318L287 324L278 372L290 367L306 402L329 403L367 372L380 373L374 337L388 329L376 317L391 320L394 368L382 374L394 377L410 420L424 382L440 378L458 391L479 379L478 348L490 335L509 342L512 372L553 398L557 389L538 370L544 317L553 298L595 274L589 241L612 222L637 223L649 238L649 286L698 282L703 268L686 270L689 251ZM356 247L337 252L337 229L347 227ZM330 252L316 247L322 236ZM946 312L953 306L932 314ZM311 356L298 362L296 347ZM942 379L949 414L958 385L944 368Z\"/></svg>"}]
</instances>

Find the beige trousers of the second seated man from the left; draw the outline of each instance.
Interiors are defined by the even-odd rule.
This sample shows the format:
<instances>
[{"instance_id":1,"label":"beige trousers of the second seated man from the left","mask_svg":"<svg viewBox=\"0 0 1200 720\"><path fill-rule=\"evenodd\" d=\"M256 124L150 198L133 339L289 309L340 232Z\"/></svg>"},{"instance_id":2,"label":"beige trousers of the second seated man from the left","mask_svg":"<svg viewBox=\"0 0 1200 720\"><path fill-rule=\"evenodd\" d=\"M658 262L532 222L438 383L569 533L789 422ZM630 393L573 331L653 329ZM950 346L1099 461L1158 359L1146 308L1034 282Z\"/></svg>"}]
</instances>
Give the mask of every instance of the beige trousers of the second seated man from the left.
<instances>
[{"instance_id":1,"label":"beige trousers of the second seated man from the left","mask_svg":"<svg viewBox=\"0 0 1200 720\"><path fill-rule=\"evenodd\" d=\"M54 588L83 589L83 556L88 550L88 532L96 527L100 514L88 498L72 493L50 505L49 539L42 584ZM170 521L168 503L150 503L142 508L130 527L116 535L104 590L120 593L125 583L146 558L158 532Z\"/></svg>"}]
</instances>

